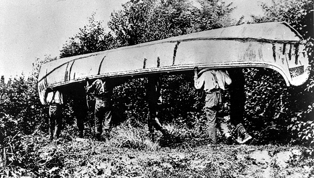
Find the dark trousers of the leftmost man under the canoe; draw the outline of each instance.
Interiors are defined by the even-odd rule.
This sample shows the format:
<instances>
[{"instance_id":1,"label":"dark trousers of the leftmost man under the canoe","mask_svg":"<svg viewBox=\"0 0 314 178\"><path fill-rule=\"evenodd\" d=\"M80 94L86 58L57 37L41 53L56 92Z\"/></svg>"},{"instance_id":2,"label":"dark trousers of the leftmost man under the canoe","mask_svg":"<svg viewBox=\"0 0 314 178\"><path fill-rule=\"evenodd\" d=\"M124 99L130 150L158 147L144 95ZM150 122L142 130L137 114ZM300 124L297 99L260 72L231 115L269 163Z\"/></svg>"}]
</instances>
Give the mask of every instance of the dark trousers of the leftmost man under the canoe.
<instances>
[{"instance_id":1,"label":"dark trousers of the leftmost man under the canoe","mask_svg":"<svg viewBox=\"0 0 314 178\"><path fill-rule=\"evenodd\" d=\"M62 127L62 105L49 106L49 135L50 139L58 138Z\"/></svg>"}]
</instances>

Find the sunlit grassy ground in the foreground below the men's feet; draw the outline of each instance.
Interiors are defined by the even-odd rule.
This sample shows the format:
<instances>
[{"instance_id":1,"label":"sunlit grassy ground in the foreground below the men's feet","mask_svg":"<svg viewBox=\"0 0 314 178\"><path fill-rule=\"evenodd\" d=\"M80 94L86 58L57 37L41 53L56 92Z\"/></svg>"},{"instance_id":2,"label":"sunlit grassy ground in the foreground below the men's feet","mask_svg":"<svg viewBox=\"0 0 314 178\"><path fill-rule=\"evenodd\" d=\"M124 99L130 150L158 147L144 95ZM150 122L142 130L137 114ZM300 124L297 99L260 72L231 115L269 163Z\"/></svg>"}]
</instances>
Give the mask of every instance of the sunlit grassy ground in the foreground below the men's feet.
<instances>
[{"instance_id":1,"label":"sunlit grassy ground in the foreground below the men's feet","mask_svg":"<svg viewBox=\"0 0 314 178\"><path fill-rule=\"evenodd\" d=\"M181 143L164 147L150 142L146 148L134 149L117 147L116 141L55 141L42 153L59 155L55 161L60 166L49 171L70 177L311 177L314 173L314 159L304 157L300 146Z\"/></svg>"}]
</instances>

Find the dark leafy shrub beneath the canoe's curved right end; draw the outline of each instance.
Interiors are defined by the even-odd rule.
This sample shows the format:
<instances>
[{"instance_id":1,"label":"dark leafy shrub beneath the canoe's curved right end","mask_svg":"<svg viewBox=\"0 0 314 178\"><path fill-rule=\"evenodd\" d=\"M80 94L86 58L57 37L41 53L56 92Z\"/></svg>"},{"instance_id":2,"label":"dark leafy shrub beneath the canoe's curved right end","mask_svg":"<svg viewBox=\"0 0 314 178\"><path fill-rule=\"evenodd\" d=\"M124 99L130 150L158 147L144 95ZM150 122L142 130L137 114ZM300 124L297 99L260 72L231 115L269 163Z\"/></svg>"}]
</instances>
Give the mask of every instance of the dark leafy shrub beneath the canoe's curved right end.
<instances>
[{"instance_id":1,"label":"dark leafy shrub beneath the canoe's curved right end","mask_svg":"<svg viewBox=\"0 0 314 178\"><path fill-rule=\"evenodd\" d=\"M245 121L259 142L289 141L287 126L293 103L285 81L279 73L265 69L246 71Z\"/></svg>"}]
</instances>

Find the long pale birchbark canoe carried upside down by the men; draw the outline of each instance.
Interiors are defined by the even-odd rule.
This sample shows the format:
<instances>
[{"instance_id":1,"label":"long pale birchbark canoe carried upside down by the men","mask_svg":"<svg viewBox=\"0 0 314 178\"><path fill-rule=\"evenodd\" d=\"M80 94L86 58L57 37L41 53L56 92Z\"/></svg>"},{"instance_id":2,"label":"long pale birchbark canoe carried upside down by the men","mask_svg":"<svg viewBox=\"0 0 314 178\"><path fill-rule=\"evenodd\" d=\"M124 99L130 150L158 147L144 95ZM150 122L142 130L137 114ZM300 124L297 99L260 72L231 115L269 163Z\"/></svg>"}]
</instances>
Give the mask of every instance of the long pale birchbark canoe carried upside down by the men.
<instances>
[{"instance_id":1,"label":"long pale birchbark canoe carried upside down by the men","mask_svg":"<svg viewBox=\"0 0 314 178\"><path fill-rule=\"evenodd\" d=\"M210 68L266 67L287 85L309 76L302 36L286 22L251 23L190 33L111 50L59 58L41 65L38 92L90 79Z\"/></svg>"}]
</instances>

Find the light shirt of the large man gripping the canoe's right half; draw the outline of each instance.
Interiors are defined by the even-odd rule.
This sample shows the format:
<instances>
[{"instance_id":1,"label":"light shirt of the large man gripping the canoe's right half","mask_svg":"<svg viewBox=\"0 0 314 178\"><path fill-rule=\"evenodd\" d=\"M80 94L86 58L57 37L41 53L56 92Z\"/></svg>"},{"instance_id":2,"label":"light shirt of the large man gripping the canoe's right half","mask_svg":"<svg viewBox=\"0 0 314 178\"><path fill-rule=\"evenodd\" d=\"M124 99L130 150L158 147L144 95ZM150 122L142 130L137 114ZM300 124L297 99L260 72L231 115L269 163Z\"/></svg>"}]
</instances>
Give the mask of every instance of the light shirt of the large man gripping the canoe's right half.
<instances>
[{"instance_id":1,"label":"light shirt of the large man gripping the canoe's right half","mask_svg":"<svg viewBox=\"0 0 314 178\"><path fill-rule=\"evenodd\" d=\"M205 92L215 88L225 90L225 84L231 84L231 78L226 70L207 70L198 78L194 78L195 88L201 89L204 86Z\"/></svg>"}]
</instances>

